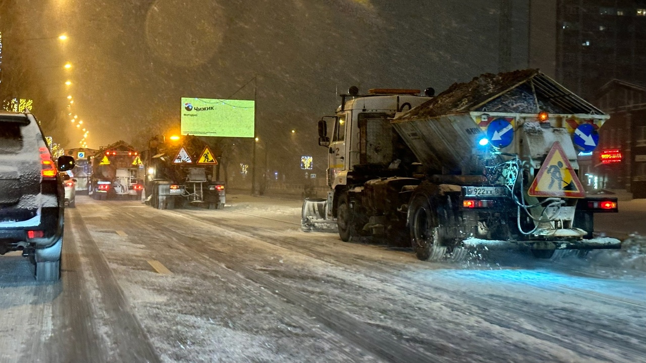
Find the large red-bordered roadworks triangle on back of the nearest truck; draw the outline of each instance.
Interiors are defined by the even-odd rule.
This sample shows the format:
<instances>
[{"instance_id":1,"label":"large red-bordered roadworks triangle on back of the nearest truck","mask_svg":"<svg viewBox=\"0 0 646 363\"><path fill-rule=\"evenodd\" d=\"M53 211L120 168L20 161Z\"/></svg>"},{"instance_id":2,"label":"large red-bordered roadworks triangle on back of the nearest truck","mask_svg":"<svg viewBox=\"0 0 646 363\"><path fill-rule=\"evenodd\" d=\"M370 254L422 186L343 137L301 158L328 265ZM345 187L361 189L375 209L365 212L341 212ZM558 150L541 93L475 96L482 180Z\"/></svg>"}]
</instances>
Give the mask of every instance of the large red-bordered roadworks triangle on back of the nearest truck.
<instances>
[{"instance_id":1,"label":"large red-bordered roadworks triangle on back of the nearest truck","mask_svg":"<svg viewBox=\"0 0 646 363\"><path fill-rule=\"evenodd\" d=\"M539 169L530 196L552 196L557 198L584 198L585 191L579 182L572 164L565 156L561 144L556 141Z\"/></svg>"}]
</instances>

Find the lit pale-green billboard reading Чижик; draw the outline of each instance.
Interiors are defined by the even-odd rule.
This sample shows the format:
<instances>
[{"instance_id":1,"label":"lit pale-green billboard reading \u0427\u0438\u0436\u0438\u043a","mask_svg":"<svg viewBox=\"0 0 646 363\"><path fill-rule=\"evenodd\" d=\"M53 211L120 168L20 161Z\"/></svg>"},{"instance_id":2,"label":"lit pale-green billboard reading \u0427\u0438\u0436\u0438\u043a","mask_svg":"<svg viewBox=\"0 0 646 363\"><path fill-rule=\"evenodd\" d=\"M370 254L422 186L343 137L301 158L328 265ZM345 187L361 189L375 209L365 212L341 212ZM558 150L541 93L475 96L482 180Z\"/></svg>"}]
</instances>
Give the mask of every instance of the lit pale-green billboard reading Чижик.
<instances>
[{"instance_id":1,"label":"lit pale-green billboard reading \u0427\u0438\u0436\u0438\u043a","mask_svg":"<svg viewBox=\"0 0 646 363\"><path fill-rule=\"evenodd\" d=\"M255 101L182 98L182 135L253 138Z\"/></svg>"}]
</instances>

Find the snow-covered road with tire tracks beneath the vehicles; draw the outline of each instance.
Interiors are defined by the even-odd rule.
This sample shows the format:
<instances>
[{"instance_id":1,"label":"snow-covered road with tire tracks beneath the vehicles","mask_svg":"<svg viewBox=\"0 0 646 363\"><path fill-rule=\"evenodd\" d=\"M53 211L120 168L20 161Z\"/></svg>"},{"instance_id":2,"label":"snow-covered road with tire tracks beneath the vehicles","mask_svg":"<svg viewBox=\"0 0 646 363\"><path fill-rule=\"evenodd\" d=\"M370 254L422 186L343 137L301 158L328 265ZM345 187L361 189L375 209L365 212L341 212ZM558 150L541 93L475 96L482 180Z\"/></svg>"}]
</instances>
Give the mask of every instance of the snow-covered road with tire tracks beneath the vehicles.
<instances>
[{"instance_id":1,"label":"snow-covered road with tire tracks beneath the vehicles","mask_svg":"<svg viewBox=\"0 0 646 363\"><path fill-rule=\"evenodd\" d=\"M519 253L431 263L300 231L300 202L79 197L63 280L0 258L0 362L643 362L646 279Z\"/></svg>"}]
</instances>

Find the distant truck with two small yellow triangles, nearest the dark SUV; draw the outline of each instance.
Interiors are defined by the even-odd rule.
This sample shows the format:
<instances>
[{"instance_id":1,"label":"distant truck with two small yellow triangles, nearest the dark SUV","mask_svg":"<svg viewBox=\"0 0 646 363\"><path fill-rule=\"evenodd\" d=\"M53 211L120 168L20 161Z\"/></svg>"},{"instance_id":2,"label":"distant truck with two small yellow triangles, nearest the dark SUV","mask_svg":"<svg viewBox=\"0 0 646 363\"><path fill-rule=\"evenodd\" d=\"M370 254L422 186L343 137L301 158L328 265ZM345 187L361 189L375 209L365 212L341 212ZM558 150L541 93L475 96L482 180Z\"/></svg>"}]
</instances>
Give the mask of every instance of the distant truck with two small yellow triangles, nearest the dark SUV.
<instances>
[{"instance_id":1,"label":"distant truck with two small yellow triangles, nearest the dark SUV","mask_svg":"<svg viewBox=\"0 0 646 363\"><path fill-rule=\"evenodd\" d=\"M141 200L143 163L125 141L101 147L90 160L89 194L93 199Z\"/></svg>"}]
</instances>

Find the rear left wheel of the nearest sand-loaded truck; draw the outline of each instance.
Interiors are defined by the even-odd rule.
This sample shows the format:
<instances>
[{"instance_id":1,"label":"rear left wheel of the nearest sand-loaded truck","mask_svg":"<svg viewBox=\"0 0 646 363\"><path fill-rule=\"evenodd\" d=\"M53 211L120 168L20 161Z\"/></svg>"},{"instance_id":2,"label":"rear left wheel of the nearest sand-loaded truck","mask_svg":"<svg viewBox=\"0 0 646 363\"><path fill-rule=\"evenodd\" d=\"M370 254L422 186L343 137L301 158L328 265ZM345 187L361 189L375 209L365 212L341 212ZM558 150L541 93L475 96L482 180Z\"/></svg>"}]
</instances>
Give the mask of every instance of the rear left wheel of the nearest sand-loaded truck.
<instances>
[{"instance_id":1,"label":"rear left wheel of the nearest sand-loaded truck","mask_svg":"<svg viewBox=\"0 0 646 363\"><path fill-rule=\"evenodd\" d=\"M439 260L446 253L446 246L439 229L437 205L432 205L437 192L432 185L419 187L410 202L410 239L419 260Z\"/></svg>"}]
</instances>

